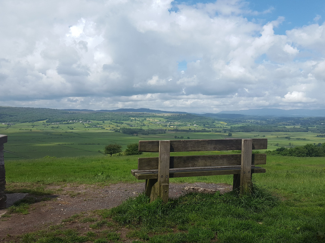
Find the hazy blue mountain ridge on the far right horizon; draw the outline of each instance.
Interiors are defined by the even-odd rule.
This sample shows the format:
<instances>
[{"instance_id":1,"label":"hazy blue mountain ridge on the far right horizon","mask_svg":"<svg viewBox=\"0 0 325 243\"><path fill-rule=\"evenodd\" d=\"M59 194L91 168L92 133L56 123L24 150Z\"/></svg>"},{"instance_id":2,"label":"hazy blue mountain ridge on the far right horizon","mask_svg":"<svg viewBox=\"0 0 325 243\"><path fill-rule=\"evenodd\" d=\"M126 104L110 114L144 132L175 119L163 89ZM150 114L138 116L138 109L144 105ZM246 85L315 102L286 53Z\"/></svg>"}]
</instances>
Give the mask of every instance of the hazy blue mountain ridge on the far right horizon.
<instances>
[{"instance_id":1,"label":"hazy blue mountain ridge on the far right horizon","mask_svg":"<svg viewBox=\"0 0 325 243\"><path fill-rule=\"evenodd\" d=\"M247 110L224 110L217 114L240 114L240 115L253 115L253 116L300 116L300 117L325 117L325 109L309 110L309 109L275 109L275 108L262 108L262 109L247 109Z\"/></svg>"}]
</instances>

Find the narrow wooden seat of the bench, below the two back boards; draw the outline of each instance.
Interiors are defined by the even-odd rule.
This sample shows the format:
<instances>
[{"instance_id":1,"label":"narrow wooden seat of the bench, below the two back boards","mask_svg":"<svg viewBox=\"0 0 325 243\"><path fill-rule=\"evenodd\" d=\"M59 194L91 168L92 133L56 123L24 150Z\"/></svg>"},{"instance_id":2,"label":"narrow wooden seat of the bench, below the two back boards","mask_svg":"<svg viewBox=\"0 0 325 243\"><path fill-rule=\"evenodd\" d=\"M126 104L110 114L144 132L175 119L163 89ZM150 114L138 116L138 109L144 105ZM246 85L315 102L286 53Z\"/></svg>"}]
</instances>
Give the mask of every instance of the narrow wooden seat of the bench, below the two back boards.
<instances>
[{"instance_id":1,"label":"narrow wooden seat of the bench, below the two back boards","mask_svg":"<svg viewBox=\"0 0 325 243\"><path fill-rule=\"evenodd\" d=\"M265 173L266 170L262 167L252 166L251 173ZM139 171L132 170L132 174L138 179L157 179L158 170ZM227 175L227 174L240 174L240 166L225 166L225 167L210 167L210 168L182 168L170 169L169 177L189 177L189 176L206 176L206 175Z\"/></svg>"}]
</instances>

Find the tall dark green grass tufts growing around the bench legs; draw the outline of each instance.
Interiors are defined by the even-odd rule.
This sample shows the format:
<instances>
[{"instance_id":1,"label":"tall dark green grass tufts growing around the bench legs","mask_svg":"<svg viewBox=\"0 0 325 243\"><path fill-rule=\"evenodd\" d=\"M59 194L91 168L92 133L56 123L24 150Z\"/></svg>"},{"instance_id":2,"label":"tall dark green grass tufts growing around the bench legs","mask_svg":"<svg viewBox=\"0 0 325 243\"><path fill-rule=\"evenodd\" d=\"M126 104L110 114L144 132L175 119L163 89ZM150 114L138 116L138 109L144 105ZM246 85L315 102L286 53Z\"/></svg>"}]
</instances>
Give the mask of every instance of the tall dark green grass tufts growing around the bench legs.
<instances>
[{"instance_id":1,"label":"tall dark green grass tufts growing around the bench legs","mask_svg":"<svg viewBox=\"0 0 325 243\"><path fill-rule=\"evenodd\" d=\"M210 217L263 212L279 204L280 200L265 188L254 186L252 195L240 197L236 192L220 195L190 193L162 203L157 199L149 203L145 194L130 198L106 215L123 225L141 225L160 231L176 225L195 224ZM240 212L241 211L241 212Z\"/></svg>"}]
</instances>

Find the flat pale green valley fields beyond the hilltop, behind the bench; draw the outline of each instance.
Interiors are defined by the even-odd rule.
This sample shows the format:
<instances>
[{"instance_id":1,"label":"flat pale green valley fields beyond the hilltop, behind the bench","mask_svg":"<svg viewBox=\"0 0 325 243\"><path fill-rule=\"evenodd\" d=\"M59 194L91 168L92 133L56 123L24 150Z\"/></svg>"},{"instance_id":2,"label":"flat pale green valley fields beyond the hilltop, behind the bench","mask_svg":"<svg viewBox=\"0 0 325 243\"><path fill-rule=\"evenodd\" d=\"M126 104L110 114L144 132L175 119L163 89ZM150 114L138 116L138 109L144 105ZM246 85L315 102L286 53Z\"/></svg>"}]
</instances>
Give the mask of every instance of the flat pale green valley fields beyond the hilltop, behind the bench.
<instances>
[{"instance_id":1,"label":"flat pale green valley fields beyond the hilltop, behind the bench","mask_svg":"<svg viewBox=\"0 0 325 243\"><path fill-rule=\"evenodd\" d=\"M144 121L145 128L160 128L159 122L163 118L149 118ZM138 127L137 121L129 121ZM92 124L92 126L90 125ZM99 126L99 127L93 127ZM126 127L126 124L113 122L92 121L92 123L74 124L48 124L44 121L33 123L19 123L15 125L0 124L0 134L8 135L5 144L5 159L37 159L45 156L66 157L82 155L102 155L107 144L117 143L123 149L130 143L139 140L173 140L176 137L187 139L222 139L229 138L228 133L185 133L166 132L165 134L149 134L138 136L114 132L114 129ZM202 128L198 128L202 129ZM324 143L324 137L317 137L317 133L232 133L233 138L267 138L268 149L273 150L279 146L295 147L308 143ZM288 138L289 137L289 138Z\"/></svg>"}]
</instances>

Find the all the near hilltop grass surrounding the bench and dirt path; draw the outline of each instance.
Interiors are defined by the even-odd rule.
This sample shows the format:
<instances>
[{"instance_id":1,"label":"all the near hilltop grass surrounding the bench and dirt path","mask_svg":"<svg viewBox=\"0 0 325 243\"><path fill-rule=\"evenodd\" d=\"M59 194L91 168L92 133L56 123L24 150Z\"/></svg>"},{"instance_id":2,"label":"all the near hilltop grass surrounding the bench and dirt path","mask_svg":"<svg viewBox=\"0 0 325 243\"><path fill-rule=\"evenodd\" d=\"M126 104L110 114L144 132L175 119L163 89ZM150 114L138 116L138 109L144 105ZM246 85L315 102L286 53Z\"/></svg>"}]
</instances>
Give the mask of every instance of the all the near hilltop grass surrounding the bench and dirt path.
<instances>
[{"instance_id":1,"label":"all the near hilltop grass surrounding the bench and dirt path","mask_svg":"<svg viewBox=\"0 0 325 243\"><path fill-rule=\"evenodd\" d=\"M42 193L47 184L135 183L130 170L136 168L137 157L9 160L7 191ZM325 242L324 158L267 156L263 167L266 173L253 175L252 196L190 194L162 204L148 203L140 195L112 210L94 212L101 219L86 232L49 227L24 234L19 242L121 242L116 233L121 228L129 230L126 238L133 243ZM232 176L171 178L171 182L197 181L232 184ZM87 219L79 214L73 220Z\"/></svg>"}]
</instances>

